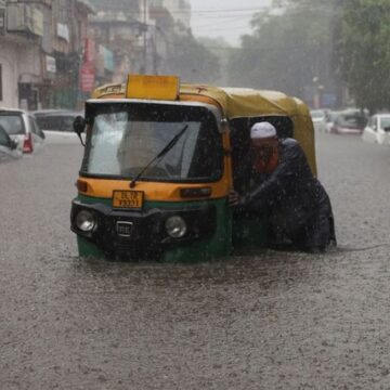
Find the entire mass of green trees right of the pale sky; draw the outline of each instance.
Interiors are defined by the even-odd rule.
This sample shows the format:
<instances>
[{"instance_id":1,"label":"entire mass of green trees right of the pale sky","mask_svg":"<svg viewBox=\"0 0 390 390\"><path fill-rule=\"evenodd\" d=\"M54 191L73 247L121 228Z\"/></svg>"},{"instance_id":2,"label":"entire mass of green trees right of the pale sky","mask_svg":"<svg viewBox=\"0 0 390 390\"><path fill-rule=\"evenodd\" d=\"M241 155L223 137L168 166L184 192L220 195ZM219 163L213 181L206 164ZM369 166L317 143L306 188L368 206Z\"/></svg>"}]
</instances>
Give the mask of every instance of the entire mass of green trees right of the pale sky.
<instances>
[{"instance_id":1,"label":"entire mass of green trees right of the pale sky","mask_svg":"<svg viewBox=\"0 0 390 390\"><path fill-rule=\"evenodd\" d=\"M315 79L339 98L348 87L361 108L390 108L390 0L273 5L278 11L255 15L253 34L231 55L232 84L304 96L310 89L315 93Z\"/></svg>"}]
</instances>

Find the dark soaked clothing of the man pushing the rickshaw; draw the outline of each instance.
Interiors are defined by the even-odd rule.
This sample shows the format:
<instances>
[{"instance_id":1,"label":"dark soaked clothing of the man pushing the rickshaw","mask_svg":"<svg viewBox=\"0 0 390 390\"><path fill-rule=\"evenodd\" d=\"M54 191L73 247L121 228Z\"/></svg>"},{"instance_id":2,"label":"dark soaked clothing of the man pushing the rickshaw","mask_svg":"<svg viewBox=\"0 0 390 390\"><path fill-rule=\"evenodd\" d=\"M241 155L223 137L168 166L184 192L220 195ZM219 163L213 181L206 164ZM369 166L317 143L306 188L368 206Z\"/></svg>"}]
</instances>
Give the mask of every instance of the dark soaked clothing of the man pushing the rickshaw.
<instances>
[{"instance_id":1,"label":"dark soaked clothing of the man pushing the rickshaw","mask_svg":"<svg viewBox=\"0 0 390 390\"><path fill-rule=\"evenodd\" d=\"M238 192L249 191L243 194L236 213L266 213L274 231L302 242L302 246L336 242L329 198L296 140L280 141L280 164L272 173L257 174L251 164L244 166L246 180L237 178Z\"/></svg>"}]
</instances>

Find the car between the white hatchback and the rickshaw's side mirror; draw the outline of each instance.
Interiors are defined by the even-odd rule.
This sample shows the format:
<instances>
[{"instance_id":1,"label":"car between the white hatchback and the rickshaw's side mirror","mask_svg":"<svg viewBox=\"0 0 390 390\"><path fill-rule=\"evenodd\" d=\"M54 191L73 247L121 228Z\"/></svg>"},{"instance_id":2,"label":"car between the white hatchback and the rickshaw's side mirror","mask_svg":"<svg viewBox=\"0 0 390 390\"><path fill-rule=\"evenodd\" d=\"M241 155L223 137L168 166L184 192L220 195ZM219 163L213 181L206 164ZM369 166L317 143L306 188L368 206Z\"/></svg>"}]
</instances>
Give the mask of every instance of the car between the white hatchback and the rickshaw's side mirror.
<instances>
[{"instance_id":1,"label":"car between the white hatchback and the rickshaw's side mirror","mask_svg":"<svg viewBox=\"0 0 390 390\"><path fill-rule=\"evenodd\" d=\"M63 110L63 109L44 109L32 113L37 119L38 126L44 132L48 143L76 143L77 134L74 132L73 122L77 116L83 113Z\"/></svg>"}]
</instances>

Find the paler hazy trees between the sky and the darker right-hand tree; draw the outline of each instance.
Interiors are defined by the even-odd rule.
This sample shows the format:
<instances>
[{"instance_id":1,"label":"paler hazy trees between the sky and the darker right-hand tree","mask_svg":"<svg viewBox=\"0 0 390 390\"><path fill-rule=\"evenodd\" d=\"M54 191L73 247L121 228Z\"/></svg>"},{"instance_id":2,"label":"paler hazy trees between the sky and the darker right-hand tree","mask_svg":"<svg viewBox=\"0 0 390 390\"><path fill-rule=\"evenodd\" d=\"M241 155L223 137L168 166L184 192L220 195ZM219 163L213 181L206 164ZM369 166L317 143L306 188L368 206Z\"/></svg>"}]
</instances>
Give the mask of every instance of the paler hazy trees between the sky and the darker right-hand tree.
<instances>
[{"instance_id":1,"label":"paler hazy trees between the sky and the darker right-hand tree","mask_svg":"<svg viewBox=\"0 0 390 390\"><path fill-rule=\"evenodd\" d=\"M278 0L278 11L252 20L253 35L231 55L232 84L276 89L304 96L313 78L329 84L333 1Z\"/></svg>"}]
</instances>

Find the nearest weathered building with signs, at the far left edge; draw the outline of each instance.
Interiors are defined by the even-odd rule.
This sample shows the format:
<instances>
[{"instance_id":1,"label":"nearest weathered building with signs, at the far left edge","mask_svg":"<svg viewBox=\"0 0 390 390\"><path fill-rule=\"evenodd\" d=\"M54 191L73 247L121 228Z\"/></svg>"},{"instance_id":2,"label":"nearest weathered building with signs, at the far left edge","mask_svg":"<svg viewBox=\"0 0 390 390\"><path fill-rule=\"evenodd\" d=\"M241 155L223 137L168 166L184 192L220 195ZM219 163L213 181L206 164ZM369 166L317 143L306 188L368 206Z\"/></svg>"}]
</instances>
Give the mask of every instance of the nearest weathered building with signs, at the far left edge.
<instances>
[{"instance_id":1,"label":"nearest weathered building with signs, at the far left edge","mask_svg":"<svg viewBox=\"0 0 390 390\"><path fill-rule=\"evenodd\" d=\"M74 108L87 0L0 0L0 106Z\"/></svg>"}]
</instances>

